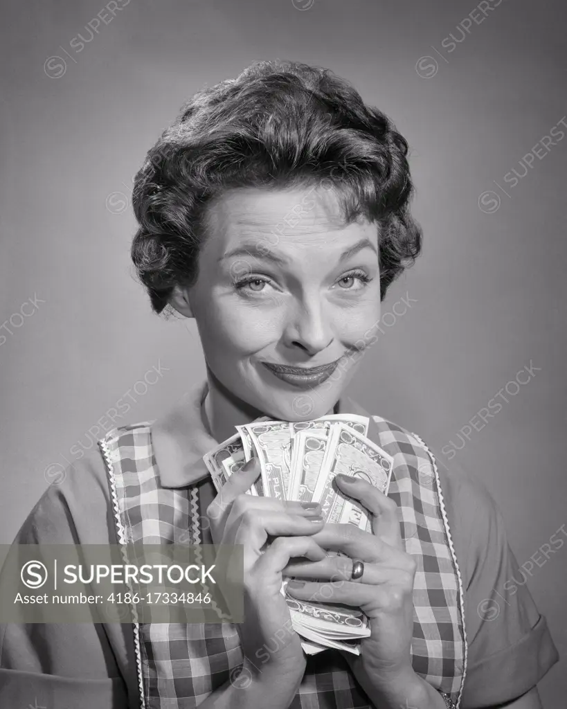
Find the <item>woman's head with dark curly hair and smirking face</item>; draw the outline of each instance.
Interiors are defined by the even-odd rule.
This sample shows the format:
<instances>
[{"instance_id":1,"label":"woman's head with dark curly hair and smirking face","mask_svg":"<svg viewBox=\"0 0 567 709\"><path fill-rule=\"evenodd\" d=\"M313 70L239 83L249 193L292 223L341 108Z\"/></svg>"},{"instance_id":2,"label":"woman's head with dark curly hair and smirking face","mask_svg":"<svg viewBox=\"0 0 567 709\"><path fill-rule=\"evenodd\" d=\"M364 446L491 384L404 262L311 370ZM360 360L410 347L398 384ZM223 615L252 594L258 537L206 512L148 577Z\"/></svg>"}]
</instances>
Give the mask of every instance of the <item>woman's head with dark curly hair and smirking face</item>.
<instances>
[{"instance_id":1,"label":"woman's head with dark curly hair and smirking face","mask_svg":"<svg viewBox=\"0 0 567 709\"><path fill-rule=\"evenodd\" d=\"M291 62L202 91L164 131L135 182L132 255L155 311L196 318L208 411L223 388L290 420L298 388L325 378L314 368L332 374L368 339L420 252L407 152L347 82ZM346 369L315 391L313 418Z\"/></svg>"}]
</instances>

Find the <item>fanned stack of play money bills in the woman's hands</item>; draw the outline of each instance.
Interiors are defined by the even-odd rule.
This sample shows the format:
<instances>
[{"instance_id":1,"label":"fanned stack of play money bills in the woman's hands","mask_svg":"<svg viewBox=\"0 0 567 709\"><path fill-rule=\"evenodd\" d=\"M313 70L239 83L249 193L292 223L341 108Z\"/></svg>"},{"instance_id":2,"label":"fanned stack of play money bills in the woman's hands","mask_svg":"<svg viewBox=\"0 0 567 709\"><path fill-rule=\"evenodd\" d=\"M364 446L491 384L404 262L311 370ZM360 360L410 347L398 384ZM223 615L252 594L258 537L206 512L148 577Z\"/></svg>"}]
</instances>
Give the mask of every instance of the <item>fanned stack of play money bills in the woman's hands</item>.
<instances>
[{"instance_id":1,"label":"fanned stack of play money bills in the woman's hands","mask_svg":"<svg viewBox=\"0 0 567 709\"><path fill-rule=\"evenodd\" d=\"M393 458L366 437L368 424L368 418L355 414L302 422L259 418L237 426L237 433L203 460L219 491L232 473L257 457L262 474L247 494L318 502L326 522L349 523L371 532L366 510L332 484L338 473L359 476L388 494ZM334 647L359 654L361 638L370 635L366 615L347 605L292 598L286 595L288 580L283 582L282 593L293 628L303 637L304 651L315 654Z\"/></svg>"}]
</instances>

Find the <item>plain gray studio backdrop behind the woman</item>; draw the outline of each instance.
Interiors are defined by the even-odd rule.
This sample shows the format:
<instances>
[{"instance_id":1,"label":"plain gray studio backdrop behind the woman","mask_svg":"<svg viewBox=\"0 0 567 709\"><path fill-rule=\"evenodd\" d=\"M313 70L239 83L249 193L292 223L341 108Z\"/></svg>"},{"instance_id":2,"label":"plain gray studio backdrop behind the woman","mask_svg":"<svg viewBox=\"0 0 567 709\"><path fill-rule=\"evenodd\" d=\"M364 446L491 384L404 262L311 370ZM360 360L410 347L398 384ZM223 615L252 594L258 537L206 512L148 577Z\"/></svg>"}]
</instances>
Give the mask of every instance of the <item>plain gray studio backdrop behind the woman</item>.
<instances>
[{"instance_id":1,"label":"plain gray studio backdrop behind the woman","mask_svg":"<svg viewBox=\"0 0 567 709\"><path fill-rule=\"evenodd\" d=\"M2 5L0 542L109 409L157 418L204 375L194 323L152 315L132 277L132 178L190 94L280 57L352 80L412 147L424 252L350 393L481 479L541 564L567 523L563 0ZM540 564L554 708L567 545Z\"/></svg>"}]
</instances>

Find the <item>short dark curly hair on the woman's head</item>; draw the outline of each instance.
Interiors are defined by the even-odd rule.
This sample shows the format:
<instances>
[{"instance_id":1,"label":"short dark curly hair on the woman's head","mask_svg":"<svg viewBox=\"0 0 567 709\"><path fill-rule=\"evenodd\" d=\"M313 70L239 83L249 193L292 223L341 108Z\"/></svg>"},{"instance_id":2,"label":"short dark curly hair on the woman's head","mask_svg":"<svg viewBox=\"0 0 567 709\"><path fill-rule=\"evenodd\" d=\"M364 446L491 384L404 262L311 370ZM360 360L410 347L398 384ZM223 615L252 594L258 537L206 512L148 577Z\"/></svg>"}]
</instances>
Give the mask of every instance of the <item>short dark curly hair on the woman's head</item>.
<instances>
[{"instance_id":1,"label":"short dark curly hair on the woman's head","mask_svg":"<svg viewBox=\"0 0 567 709\"><path fill-rule=\"evenodd\" d=\"M164 310L176 284L196 281L206 209L225 190L324 182L345 223L364 216L378 225L383 300L421 250L407 155L389 118L329 69L254 62L198 91L135 176L131 256L153 310Z\"/></svg>"}]
</instances>

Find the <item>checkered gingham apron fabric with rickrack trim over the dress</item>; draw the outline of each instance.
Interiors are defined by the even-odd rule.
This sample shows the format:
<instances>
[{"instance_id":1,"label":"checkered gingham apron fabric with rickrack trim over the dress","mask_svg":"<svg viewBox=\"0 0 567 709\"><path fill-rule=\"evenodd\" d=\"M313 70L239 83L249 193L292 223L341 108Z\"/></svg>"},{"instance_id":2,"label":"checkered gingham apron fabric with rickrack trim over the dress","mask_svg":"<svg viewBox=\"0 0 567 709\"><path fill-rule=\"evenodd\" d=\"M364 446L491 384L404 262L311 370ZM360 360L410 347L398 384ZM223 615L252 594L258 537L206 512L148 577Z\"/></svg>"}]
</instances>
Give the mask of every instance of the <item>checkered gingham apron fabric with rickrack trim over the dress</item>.
<instances>
[{"instance_id":1,"label":"checkered gingham apron fabric with rickrack trim over the dress","mask_svg":"<svg viewBox=\"0 0 567 709\"><path fill-rule=\"evenodd\" d=\"M394 459L388 496L398 503L405 549L417 562L412 666L460 705L466 674L461 576L444 513L434 458L419 437L373 416L369 438ZM198 489L159 485L153 422L115 428L99 440L106 461L118 540L126 552L144 544L203 543ZM208 484L208 481L205 482ZM231 623L138 623L133 606L140 708L192 709L242 664ZM347 662L335 650L308 656L292 709L372 708Z\"/></svg>"}]
</instances>

